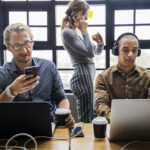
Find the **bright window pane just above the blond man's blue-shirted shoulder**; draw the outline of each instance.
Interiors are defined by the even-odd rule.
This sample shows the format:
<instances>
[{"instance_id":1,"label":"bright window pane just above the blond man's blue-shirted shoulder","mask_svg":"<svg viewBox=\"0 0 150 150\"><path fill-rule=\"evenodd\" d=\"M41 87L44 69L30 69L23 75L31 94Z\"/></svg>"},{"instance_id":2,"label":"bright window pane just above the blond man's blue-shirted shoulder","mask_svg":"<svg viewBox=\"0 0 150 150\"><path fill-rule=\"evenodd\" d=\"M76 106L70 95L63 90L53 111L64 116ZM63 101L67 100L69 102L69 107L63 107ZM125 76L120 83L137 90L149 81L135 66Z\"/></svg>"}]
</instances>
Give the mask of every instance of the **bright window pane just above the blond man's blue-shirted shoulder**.
<instances>
[{"instance_id":1,"label":"bright window pane just above the blond man's blue-shirted shoulder","mask_svg":"<svg viewBox=\"0 0 150 150\"><path fill-rule=\"evenodd\" d=\"M33 50L32 56L52 61L52 50Z\"/></svg>"}]
</instances>

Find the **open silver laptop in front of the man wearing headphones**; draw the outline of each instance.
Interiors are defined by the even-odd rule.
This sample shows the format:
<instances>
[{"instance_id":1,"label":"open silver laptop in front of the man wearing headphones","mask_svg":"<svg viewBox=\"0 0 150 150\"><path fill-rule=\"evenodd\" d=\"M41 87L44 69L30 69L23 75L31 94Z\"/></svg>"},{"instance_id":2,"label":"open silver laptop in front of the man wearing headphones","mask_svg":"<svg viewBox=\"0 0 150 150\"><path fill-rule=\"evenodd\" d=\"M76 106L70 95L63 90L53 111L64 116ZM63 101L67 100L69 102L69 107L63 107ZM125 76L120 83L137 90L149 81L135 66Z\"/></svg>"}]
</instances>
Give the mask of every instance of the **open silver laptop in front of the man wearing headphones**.
<instances>
[{"instance_id":1,"label":"open silver laptop in front of the man wearing headphones","mask_svg":"<svg viewBox=\"0 0 150 150\"><path fill-rule=\"evenodd\" d=\"M150 141L150 99L112 100L110 119L110 141Z\"/></svg>"}]
</instances>

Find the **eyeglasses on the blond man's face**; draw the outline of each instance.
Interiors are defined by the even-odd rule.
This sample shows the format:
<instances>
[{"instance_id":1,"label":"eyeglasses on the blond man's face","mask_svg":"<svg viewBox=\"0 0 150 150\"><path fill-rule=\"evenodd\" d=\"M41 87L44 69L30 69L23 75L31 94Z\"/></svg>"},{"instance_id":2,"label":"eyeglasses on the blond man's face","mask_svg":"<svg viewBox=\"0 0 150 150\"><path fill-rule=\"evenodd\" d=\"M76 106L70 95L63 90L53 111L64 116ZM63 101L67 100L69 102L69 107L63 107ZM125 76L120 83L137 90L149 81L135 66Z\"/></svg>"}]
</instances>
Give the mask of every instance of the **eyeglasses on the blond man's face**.
<instances>
[{"instance_id":1,"label":"eyeglasses on the blond man's face","mask_svg":"<svg viewBox=\"0 0 150 150\"><path fill-rule=\"evenodd\" d=\"M15 51L21 50L22 46L25 48L31 47L33 44L32 40L25 41L24 44L9 44Z\"/></svg>"}]
</instances>

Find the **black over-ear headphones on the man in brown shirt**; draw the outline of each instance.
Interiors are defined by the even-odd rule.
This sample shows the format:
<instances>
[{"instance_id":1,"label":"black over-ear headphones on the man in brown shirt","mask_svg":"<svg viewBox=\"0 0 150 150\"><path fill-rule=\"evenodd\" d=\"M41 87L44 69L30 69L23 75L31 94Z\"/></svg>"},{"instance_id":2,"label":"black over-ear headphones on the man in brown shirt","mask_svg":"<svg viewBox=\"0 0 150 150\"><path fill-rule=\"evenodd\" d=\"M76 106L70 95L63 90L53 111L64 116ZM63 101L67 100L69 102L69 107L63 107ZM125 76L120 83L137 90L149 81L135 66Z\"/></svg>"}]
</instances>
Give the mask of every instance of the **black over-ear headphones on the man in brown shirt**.
<instances>
[{"instance_id":1,"label":"black over-ear headphones on the man in brown shirt","mask_svg":"<svg viewBox=\"0 0 150 150\"><path fill-rule=\"evenodd\" d=\"M119 49L118 49L118 45L119 45L119 41L120 41L121 38L124 37L125 35L132 35L132 36L134 36L134 37L137 39L138 44L139 44L137 56L140 56L140 55L141 55L140 41L139 41L138 37L137 37L135 34L130 33L130 32L123 33L123 34L121 34L121 35L118 37L118 39L115 41L114 46L113 46L113 48L112 48L112 54L115 55L115 56L118 56L118 50L119 50Z\"/></svg>"}]
</instances>

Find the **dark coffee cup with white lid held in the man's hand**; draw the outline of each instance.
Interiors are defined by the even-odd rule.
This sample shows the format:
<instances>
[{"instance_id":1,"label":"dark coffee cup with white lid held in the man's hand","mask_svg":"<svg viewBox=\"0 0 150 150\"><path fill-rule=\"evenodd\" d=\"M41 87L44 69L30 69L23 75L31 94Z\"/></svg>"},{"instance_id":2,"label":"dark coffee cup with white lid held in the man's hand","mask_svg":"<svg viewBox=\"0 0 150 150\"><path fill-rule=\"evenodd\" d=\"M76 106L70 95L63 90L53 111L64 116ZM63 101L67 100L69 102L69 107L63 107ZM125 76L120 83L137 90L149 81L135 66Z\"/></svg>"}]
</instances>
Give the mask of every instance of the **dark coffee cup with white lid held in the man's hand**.
<instances>
[{"instance_id":1,"label":"dark coffee cup with white lid held in the man's hand","mask_svg":"<svg viewBox=\"0 0 150 150\"><path fill-rule=\"evenodd\" d=\"M65 119L68 117L68 110L64 108L57 108L55 111L56 115L56 124L59 127L65 127Z\"/></svg>"}]
</instances>

